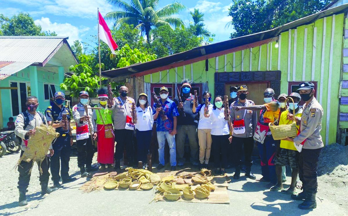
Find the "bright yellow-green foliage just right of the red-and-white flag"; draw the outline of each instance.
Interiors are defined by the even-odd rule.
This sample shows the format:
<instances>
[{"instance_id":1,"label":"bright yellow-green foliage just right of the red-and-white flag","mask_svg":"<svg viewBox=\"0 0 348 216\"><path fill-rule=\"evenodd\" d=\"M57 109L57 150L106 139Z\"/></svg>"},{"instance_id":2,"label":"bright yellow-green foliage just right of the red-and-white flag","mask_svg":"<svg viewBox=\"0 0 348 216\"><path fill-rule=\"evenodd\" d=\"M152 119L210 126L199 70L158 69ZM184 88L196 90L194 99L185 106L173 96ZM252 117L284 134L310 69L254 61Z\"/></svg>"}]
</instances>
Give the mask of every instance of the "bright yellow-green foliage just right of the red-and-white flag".
<instances>
[{"instance_id":1,"label":"bright yellow-green foliage just right of the red-and-white flag","mask_svg":"<svg viewBox=\"0 0 348 216\"><path fill-rule=\"evenodd\" d=\"M139 49L130 49L129 45L124 45L120 50L116 51L116 55L111 54L111 59L117 62L117 68L127 67L129 65L155 60L156 54L141 52Z\"/></svg>"}]
</instances>

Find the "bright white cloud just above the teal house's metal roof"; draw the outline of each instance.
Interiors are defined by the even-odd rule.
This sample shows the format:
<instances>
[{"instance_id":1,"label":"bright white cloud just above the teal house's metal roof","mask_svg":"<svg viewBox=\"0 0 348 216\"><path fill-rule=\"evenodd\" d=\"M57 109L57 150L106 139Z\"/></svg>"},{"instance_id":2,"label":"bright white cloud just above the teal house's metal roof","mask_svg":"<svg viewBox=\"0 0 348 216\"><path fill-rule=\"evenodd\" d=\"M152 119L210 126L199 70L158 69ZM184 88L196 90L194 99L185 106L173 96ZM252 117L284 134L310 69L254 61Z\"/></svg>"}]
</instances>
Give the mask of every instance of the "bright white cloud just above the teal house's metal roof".
<instances>
[{"instance_id":1,"label":"bright white cloud just above the teal house's metal roof","mask_svg":"<svg viewBox=\"0 0 348 216\"><path fill-rule=\"evenodd\" d=\"M88 31L88 27L76 27L70 23L52 23L48 17L41 17L40 20L35 20L35 24L41 25L42 31L55 31L58 36L68 36L68 42L73 44L74 40L80 40L84 32Z\"/></svg>"}]
</instances>

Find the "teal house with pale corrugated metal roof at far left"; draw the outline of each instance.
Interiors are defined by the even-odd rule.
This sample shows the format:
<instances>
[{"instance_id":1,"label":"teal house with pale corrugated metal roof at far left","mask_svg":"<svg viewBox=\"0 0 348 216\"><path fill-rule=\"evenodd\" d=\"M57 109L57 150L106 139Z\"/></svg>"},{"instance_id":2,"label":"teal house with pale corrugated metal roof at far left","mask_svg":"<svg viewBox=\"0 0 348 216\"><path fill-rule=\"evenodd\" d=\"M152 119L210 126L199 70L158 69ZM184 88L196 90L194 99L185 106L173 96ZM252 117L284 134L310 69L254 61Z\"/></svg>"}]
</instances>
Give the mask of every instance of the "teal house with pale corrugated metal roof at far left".
<instances>
[{"instance_id":1,"label":"teal house with pale corrugated metal roof at far left","mask_svg":"<svg viewBox=\"0 0 348 216\"><path fill-rule=\"evenodd\" d=\"M0 36L0 129L26 110L25 99L39 98L39 111L61 90L64 74L78 64L68 37Z\"/></svg>"}]
</instances>

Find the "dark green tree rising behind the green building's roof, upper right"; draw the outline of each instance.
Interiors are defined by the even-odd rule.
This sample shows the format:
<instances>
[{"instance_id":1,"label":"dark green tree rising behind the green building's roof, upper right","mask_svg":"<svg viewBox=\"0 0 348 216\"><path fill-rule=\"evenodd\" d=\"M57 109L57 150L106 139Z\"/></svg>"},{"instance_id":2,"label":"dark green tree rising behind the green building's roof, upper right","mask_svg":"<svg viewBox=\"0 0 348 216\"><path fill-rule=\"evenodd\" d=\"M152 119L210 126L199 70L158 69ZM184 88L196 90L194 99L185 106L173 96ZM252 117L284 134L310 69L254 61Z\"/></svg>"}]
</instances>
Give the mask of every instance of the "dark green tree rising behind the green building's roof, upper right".
<instances>
[{"instance_id":1,"label":"dark green tree rising behind the green building's roof, upper right","mask_svg":"<svg viewBox=\"0 0 348 216\"><path fill-rule=\"evenodd\" d=\"M236 0L228 15L230 38L266 31L321 11L331 0Z\"/></svg>"}]
</instances>

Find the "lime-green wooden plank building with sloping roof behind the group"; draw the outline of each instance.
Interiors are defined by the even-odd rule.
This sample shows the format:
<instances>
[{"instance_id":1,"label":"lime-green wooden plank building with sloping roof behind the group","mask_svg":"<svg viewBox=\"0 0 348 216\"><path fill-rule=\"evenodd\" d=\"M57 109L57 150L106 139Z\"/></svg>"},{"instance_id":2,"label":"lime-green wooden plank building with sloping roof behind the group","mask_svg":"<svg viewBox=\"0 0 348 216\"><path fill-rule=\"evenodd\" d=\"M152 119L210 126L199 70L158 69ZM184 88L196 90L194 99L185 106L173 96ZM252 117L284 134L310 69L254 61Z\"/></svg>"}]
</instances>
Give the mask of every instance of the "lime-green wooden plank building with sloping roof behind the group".
<instances>
[{"instance_id":1,"label":"lime-green wooden plank building with sloping roof behind the group","mask_svg":"<svg viewBox=\"0 0 348 216\"><path fill-rule=\"evenodd\" d=\"M268 31L102 74L109 81L125 81L136 97L141 92L158 93L166 86L173 98L184 77L195 82L193 90L200 101L204 91L223 96L229 95L231 86L246 84L248 99L256 104L264 103L263 91L268 87L276 95L291 94L300 82L310 81L324 109L324 143L344 143L348 128L347 12L348 4L332 5Z\"/></svg>"}]
</instances>

